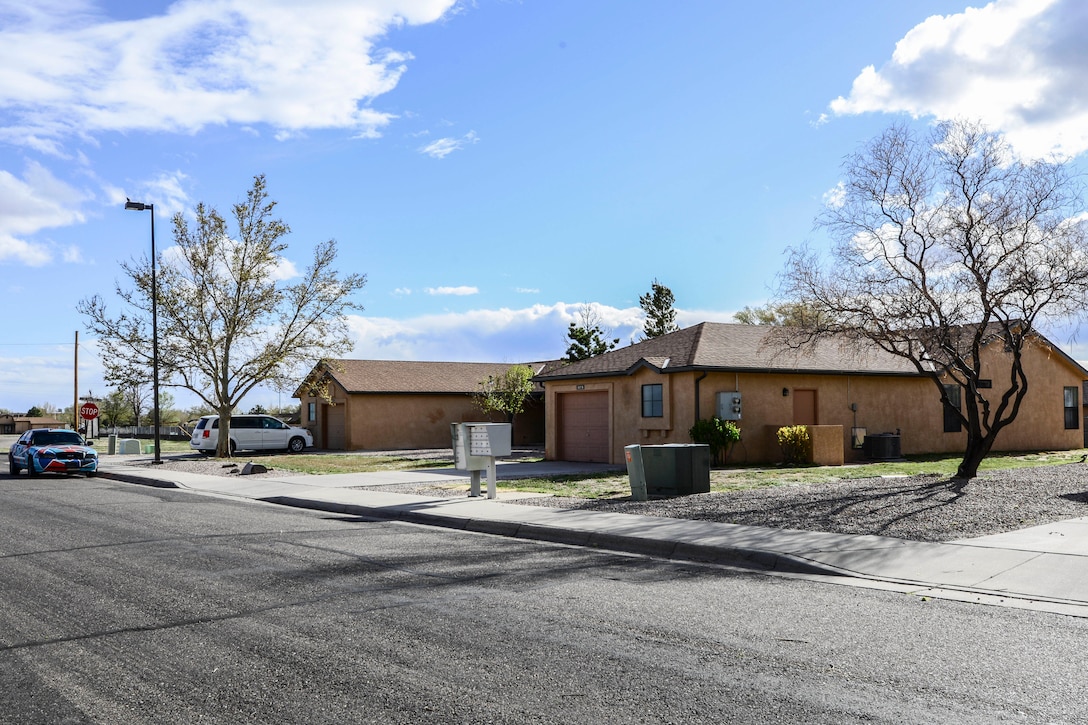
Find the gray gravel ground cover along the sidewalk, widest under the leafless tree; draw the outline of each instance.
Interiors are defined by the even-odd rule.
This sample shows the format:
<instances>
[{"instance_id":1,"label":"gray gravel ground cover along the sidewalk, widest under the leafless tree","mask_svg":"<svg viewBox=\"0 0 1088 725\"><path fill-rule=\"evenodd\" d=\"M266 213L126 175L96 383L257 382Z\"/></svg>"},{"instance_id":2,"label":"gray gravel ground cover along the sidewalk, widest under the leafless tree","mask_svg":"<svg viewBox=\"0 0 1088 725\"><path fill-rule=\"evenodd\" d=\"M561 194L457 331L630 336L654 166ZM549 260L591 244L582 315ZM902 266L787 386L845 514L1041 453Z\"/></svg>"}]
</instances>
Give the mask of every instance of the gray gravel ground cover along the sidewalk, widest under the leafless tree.
<instances>
[{"instance_id":1,"label":"gray gravel ground cover along the sidewalk, widest under the leafless tree","mask_svg":"<svg viewBox=\"0 0 1088 725\"><path fill-rule=\"evenodd\" d=\"M237 459L245 464L245 458ZM168 469L237 475L209 458L168 458ZM271 470L261 476L283 476ZM463 496L461 489L399 484L374 490ZM1088 465L1063 464L987 471L962 484L938 476L864 478L780 486L673 499L584 500L537 496L519 505L667 516L747 526L871 533L918 541L952 541L1088 516Z\"/></svg>"}]
</instances>

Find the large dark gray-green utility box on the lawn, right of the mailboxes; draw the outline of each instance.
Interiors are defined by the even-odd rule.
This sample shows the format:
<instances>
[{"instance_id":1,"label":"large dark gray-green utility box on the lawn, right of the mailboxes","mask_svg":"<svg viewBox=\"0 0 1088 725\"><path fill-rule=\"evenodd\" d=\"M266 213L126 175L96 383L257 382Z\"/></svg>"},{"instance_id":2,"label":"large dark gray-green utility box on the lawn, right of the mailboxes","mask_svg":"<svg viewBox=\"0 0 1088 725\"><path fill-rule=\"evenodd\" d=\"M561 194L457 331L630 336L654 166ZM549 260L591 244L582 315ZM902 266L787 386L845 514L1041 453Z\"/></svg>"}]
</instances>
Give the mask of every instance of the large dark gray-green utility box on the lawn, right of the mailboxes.
<instances>
[{"instance_id":1,"label":"large dark gray-green utility box on the lawn, right of the mailboxes","mask_svg":"<svg viewBox=\"0 0 1088 725\"><path fill-rule=\"evenodd\" d=\"M638 451L633 450L638 448ZM630 445L625 448L631 495L682 496L710 492L710 446L703 443ZM640 465L641 464L641 465Z\"/></svg>"}]
</instances>

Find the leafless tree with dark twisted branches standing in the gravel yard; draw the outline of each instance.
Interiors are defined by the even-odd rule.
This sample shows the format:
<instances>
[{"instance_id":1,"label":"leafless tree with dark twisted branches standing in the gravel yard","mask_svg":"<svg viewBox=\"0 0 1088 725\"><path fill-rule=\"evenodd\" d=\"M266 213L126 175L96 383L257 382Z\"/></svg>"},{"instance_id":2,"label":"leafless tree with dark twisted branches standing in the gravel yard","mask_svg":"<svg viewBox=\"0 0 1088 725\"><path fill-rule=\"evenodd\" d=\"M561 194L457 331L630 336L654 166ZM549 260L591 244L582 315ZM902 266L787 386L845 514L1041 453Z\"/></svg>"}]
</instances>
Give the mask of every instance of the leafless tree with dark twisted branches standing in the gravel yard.
<instances>
[{"instance_id":1,"label":"leafless tree with dark twisted branches standing in the gravel yard","mask_svg":"<svg viewBox=\"0 0 1088 725\"><path fill-rule=\"evenodd\" d=\"M843 168L841 204L818 220L834 239L830 258L790 250L780 296L818 314L786 336L875 344L910 360L959 417L956 476L974 478L1019 411L1037 325L1084 309L1080 187L1064 164L1017 158L966 121L923 137L893 126ZM992 389L979 385L984 352L1002 370ZM963 409L945 384L961 386Z\"/></svg>"}]
</instances>

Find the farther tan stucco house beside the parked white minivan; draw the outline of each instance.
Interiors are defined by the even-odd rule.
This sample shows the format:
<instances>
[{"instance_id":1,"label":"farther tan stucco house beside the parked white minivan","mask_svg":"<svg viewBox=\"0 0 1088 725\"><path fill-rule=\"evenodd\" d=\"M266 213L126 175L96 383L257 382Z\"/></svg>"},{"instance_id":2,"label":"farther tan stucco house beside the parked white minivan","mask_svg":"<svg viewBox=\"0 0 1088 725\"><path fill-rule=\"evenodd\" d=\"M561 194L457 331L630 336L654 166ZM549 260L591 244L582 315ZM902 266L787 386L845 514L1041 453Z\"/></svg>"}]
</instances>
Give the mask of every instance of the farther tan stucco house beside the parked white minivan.
<instances>
[{"instance_id":1,"label":"farther tan stucco house beside the parked white minivan","mask_svg":"<svg viewBox=\"0 0 1088 725\"><path fill-rule=\"evenodd\" d=\"M512 365L331 360L318 365L295 391L302 404L300 425L310 429L319 448L449 447L449 423L487 420L472 396L489 377L498 378ZM546 368L543 362L524 365L534 373ZM327 398L313 390L312 383L321 380L327 383ZM515 445L544 443L542 398L537 388L524 413L516 416Z\"/></svg>"}]
</instances>

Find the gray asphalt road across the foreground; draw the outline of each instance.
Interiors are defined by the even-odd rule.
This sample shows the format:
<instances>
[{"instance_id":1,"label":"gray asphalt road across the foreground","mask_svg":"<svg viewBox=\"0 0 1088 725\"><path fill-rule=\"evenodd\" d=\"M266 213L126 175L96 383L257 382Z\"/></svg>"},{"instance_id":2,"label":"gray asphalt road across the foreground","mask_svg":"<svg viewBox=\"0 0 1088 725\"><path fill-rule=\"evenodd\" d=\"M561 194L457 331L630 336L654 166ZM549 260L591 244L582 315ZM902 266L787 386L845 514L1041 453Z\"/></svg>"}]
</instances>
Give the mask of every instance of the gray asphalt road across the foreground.
<instances>
[{"instance_id":1,"label":"gray asphalt road across the foreground","mask_svg":"<svg viewBox=\"0 0 1088 725\"><path fill-rule=\"evenodd\" d=\"M0 476L3 723L1078 723L1088 620Z\"/></svg>"}]
</instances>

